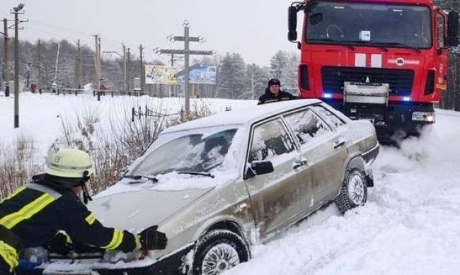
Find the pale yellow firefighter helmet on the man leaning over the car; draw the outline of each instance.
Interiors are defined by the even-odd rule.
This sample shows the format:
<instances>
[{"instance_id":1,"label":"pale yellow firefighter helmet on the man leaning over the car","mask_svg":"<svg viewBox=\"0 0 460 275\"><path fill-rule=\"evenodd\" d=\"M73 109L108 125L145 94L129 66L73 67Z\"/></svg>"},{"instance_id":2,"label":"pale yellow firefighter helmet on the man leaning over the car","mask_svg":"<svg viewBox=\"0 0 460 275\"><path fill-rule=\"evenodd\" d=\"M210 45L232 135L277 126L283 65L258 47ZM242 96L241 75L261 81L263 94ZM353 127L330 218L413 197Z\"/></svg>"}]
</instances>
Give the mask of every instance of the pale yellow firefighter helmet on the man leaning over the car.
<instances>
[{"instance_id":1,"label":"pale yellow firefighter helmet on the man leaning over the car","mask_svg":"<svg viewBox=\"0 0 460 275\"><path fill-rule=\"evenodd\" d=\"M84 177L87 171L91 175L94 170L91 157L85 151L77 149L60 149L47 157L45 172L56 177Z\"/></svg>"}]
</instances>

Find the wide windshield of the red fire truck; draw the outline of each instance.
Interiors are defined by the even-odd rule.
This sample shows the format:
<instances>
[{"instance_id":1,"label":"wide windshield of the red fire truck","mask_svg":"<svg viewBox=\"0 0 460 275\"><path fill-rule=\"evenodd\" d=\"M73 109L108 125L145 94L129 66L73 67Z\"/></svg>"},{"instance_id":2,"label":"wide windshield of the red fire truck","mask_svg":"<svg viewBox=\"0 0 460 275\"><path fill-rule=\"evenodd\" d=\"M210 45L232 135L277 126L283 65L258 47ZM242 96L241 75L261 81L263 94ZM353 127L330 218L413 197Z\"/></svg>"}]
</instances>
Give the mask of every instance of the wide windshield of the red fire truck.
<instances>
[{"instance_id":1,"label":"wide windshield of the red fire truck","mask_svg":"<svg viewBox=\"0 0 460 275\"><path fill-rule=\"evenodd\" d=\"M427 49L432 45L426 6L319 2L306 24L306 42Z\"/></svg>"}]
</instances>

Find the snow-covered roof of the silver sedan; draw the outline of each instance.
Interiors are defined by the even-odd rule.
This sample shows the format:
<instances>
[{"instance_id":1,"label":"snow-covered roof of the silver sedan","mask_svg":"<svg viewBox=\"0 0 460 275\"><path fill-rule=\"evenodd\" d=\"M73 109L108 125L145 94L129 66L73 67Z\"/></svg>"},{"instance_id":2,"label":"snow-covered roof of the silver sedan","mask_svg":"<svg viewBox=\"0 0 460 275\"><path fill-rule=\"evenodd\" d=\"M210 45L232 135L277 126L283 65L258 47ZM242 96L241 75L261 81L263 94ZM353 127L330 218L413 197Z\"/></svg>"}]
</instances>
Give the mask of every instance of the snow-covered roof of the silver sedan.
<instances>
[{"instance_id":1,"label":"snow-covered roof of the silver sedan","mask_svg":"<svg viewBox=\"0 0 460 275\"><path fill-rule=\"evenodd\" d=\"M246 126L248 124L252 124L255 121L265 119L266 117L271 117L273 115L278 115L282 112L287 112L289 110L294 110L299 107L306 107L308 105L314 105L317 103L321 103L321 100L287 100L279 103L243 107L228 112L221 112L216 115L211 115L209 117L195 119L191 122L185 122L183 124L170 127L164 130L161 134L167 134L176 131L188 131L191 129L199 129L206 127L219 127L226 125Z\"/></svg>"}]
</instances>

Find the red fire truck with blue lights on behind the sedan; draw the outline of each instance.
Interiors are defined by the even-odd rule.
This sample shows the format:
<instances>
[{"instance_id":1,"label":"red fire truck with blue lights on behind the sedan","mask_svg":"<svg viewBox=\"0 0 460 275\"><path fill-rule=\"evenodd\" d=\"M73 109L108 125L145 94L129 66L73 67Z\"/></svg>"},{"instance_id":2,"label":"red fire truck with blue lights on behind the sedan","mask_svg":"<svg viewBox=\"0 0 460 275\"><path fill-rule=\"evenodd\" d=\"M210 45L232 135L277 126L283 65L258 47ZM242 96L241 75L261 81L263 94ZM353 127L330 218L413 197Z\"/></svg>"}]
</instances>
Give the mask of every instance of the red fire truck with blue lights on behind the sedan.
<instances>
[{"instance_id":1,"label":"red fire truck with blue lights on behind the sedan","mask_svg":"<svg viewBox=\"0 0 460 275\"><path fill-rule=\"evenodd\" d=\"M306 0L288 16L288 39L301 49L301 98L371 120L381 140L419 135L435 122L448 49L459 45L459 13L432 0Z\"/></svg>"}]
</instances>

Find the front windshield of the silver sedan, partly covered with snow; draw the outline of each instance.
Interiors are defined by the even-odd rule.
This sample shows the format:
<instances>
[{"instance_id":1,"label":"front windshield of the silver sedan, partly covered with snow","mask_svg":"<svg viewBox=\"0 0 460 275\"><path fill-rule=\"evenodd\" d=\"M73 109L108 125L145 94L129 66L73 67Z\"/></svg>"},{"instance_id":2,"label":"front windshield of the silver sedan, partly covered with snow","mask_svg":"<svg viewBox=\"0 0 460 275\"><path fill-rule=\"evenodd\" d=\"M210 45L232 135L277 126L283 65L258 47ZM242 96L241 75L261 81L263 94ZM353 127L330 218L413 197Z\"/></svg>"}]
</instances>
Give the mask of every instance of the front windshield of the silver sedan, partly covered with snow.
<instances>
[{"instance_id":1,"label":"front windshield of the silver sedan, partly covered with snow","mask_svg":"<svg viewBox=\"0 0 460 275\"><path fill-rule=\"evenodd\" d=\"M209 129L207 129L209 130ZM151 151L129 175L209 172L224 163L237 129L176 137Z\"/></svg>"}]
</instances>

